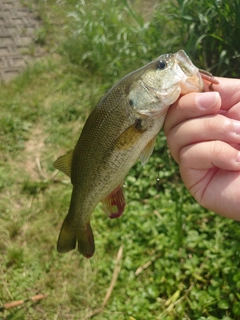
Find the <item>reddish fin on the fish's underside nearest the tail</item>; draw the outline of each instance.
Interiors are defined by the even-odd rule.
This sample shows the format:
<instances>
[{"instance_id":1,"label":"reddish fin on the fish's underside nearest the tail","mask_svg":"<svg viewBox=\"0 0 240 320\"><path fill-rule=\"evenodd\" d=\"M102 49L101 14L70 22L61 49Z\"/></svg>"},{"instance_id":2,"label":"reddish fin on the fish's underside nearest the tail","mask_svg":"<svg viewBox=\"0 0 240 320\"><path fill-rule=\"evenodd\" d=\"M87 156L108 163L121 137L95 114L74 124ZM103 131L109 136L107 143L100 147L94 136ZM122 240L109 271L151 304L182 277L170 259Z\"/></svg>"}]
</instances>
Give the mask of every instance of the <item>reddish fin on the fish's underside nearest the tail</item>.
<instances>
[{"instance_id":1,"label":"reddish fin on the fish's underside nearest the tail","mask_svg":"<svg viewBox=\"0 0 240 320\"><path fill-rule=\"evenodd\" d=\"M111 219L118 218L123 214L125 204L122 186L118 186L102 200L103 210Z\"/></svg>"}]
</instances>

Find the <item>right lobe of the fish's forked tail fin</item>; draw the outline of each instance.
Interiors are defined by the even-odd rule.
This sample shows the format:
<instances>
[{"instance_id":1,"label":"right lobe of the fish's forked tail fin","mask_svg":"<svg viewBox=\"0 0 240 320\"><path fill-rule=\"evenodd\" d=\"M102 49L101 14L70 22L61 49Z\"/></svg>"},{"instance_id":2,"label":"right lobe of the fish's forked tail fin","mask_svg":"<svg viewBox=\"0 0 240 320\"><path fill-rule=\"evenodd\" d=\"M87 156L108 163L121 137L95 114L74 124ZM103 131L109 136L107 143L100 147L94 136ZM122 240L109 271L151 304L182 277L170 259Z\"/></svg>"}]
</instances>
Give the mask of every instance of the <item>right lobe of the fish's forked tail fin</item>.
<instances>
[{"instance_id":1,"label":"right lobe of the fish's forked tail fin","mask_svg":"<svg viewBox=\"0 0 240 320\"><path fill-rule=\"evenodd\" d=\"M77 230L78 251L86 258L91 258L95 251L94 237L90 221L85 229Z\"/></svg>"}]
</instances>

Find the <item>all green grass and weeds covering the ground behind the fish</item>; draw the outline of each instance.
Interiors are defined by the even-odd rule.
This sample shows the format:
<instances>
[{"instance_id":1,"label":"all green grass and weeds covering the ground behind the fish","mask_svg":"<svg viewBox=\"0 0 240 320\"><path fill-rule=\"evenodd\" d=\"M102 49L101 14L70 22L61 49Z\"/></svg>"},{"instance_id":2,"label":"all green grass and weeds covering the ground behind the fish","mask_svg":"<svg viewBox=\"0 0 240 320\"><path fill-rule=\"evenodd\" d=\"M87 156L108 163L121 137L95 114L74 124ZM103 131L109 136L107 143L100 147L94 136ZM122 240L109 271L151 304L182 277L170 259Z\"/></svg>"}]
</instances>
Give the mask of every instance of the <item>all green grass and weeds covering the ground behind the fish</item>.
<instances>
[{"instance_id":1,"label":"all green grass and weeds covering the ground behind the fish","mask_svg":"<svg viewBox=\"0 0 240 320\"><path fill-rule=\"evenodd\" d=\"M52 166L106 90L162 53L185 49L199 67L239 76L240 2L39 0L35 10L48 54L0 88L0 302L47 297L2 317L240 319L238 224L195 203L162 133L126 178L124 215L94 211L90 260L56 252L71 185Z\"/></svg>"}]
</instances>

